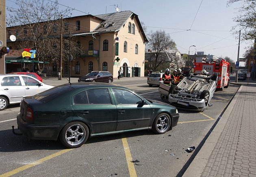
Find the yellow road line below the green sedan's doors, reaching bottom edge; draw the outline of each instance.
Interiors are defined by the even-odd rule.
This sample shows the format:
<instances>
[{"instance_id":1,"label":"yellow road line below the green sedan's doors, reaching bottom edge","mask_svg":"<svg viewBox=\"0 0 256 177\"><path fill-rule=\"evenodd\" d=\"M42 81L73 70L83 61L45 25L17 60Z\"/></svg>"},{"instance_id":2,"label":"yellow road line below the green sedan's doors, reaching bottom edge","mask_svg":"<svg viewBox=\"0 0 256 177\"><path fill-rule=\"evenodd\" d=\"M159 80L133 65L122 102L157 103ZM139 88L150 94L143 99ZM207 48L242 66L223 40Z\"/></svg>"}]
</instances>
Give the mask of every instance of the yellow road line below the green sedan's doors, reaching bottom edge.
<instances>
[{"instance_id":1,"label":"yellow road line below the green sedan's doors, reaching bottom edge","mask_svg":"<svg viewBox=\"0 0 256 177\"><path fill-rule=\"evenodd\" d=\"M124 134L122 134L122 142L123 142L123 146L124 146L124 153L125 153L125 156L126 156L126 161L127 161L130 177L137 177L135 167L134 167L134 164L132 162L132 155L130 153L130 148L129 148L127 139L124 136Z\"/></svg>"}]
</instances>

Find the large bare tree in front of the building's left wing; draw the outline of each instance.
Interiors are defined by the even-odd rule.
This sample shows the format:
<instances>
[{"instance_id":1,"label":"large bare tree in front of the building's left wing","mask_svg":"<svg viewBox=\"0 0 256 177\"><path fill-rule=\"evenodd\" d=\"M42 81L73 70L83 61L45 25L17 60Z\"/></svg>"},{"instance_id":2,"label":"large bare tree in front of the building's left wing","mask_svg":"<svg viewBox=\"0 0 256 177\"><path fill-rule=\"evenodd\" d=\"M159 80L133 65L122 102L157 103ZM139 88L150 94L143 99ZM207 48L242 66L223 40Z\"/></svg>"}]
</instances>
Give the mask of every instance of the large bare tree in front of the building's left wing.
<instances>
[{"instance_id":1,"label":"large bare tree in front of the building's left wing","mask_svg":"<svg viewBox=\"0 0 256 177\"><path fill-rule=\"evenodd\" d=\"M46 0L16 0L17 9L7 8L9 20L7 25L18 26L20 35L16 36L20 41L19 49L30 48L36 50L38 61L51 60L58 63L60 60L60 30L61 15L68 17L70 9L59 10L58 2L49 2ZM63 21L63 24L65 21ZM64 26L64 25L63 25ZM69 30L63 34L66 38L63 40L63 61L69 59ZM76 41L70 41L72 56L77 56L81 50L76 45ZM38 64L39 70L42 69Z\"/></svg>"}]
</instances>

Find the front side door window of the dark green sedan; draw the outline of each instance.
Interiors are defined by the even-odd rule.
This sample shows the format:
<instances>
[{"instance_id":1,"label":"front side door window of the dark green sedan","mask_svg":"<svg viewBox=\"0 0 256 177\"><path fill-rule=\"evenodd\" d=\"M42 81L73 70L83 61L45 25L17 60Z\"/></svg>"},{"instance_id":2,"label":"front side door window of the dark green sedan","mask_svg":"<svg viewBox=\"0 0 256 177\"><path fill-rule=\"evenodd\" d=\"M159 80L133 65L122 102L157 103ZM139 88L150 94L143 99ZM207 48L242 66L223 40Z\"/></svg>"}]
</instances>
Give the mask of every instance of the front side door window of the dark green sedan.
<instances>
[{"instance_id":1,"label":"front side door window of the dark green sedan","mask_svg":"<svg viewBox=\"0 0 256 177\"><path fill-rule=\"evenodd\" d=\"M122 89L113 89L118 104L139 104L141 98L137 95Z\"/></svg>"}]
</instances>

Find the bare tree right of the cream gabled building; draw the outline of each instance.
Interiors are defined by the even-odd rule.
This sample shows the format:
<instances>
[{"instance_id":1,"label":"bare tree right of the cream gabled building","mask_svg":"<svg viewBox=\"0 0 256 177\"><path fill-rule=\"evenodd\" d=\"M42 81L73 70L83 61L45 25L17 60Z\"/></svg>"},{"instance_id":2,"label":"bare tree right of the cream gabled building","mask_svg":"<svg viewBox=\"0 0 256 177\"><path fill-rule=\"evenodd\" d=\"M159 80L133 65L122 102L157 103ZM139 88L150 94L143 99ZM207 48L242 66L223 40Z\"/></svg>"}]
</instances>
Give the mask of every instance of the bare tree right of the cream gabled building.
<instances>
[{"instance_id":1,"label":"bare tree right of the cream gabled building","mask_svg":"<svg viewBox=\"0 0 256 177\"><path fill-rule=\"evenodd\" d=\"M150 32L149 44L148 46L152 49L152 67L154 70L164 62L171 62L171 57L165 51L167 49L176 49L175 42L171 39L169 34L166 34L165 31L155 31Z\"/></svg>"}]
</instances>

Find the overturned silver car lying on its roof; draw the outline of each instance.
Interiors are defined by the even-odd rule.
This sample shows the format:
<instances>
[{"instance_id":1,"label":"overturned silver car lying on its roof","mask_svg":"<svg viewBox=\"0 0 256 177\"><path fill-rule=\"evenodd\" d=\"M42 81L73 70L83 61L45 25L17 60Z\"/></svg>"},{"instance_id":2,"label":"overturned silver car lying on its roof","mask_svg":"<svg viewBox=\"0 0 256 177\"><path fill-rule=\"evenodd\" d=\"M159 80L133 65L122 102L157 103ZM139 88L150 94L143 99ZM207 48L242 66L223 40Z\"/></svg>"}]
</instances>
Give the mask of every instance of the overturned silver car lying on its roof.
<instances>
[{"instance_id":1,"label":"overturned silver car lying on its roof","mask_svg":"<svg viewBox=\"0 0 256 177\"><path fill-rule=\"evenodd\" d=\"M191 111L204 111L212 106L210 100L216 89L217 75L193 74L185 77L178 85L161 83L161 98L168 98L171 105Z\"/></svg>"}]
</instances>

